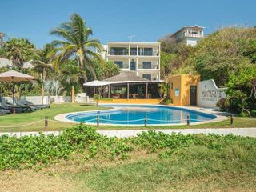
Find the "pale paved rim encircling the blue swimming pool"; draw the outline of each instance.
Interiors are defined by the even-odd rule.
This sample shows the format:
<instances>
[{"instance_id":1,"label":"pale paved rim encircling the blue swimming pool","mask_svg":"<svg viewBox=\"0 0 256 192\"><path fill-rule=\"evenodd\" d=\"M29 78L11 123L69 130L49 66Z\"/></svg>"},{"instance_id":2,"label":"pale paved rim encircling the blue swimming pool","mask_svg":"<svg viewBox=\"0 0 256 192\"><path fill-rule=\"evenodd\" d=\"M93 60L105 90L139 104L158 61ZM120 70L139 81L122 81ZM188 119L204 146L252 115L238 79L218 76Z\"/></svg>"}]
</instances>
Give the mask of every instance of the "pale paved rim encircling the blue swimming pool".
<instances>
[{"instance_id":1,"label":"pale paved rim encircling the blue swimming pool","mask_svg":"<svg viewBox=\"0 0 256 192\"><path fill-rule=\"evenodd\" d=\"M114 103L105 103L105 105L113 105ZM104 104L101 104L102 106L104 106ZM114 105L133 105L133 106L141 106L143 104L124 104L124 103L120 103L117 104L115 103ZM149 106L149 104L146 104L146 106ZM153 105L153 106L163 106L163 105ZM167 106L168 107L168 106ZM199 125L199 124L205 124L205 123L210 123L210 122L221 122L227 119L226 115L230 115L227 113L223 113L223 112L219 112L218 110L214 110L212 108L202 108L202 107L197 107L197 106L170 106L170 108L182 108L182 109L188 109L188 110L194 110L194 111L198 111L200 113L205 113L205 114L214 114L216 116L216 118L212 119L212 120L208 120L208 121L204 121L204 122L191 122L190 125ZM113 109L110 109L110 111ZM73 112L73 113L66 113L66 114L58 114L54 117L54 120L60 121L60 122L70 122L70 123L80 123L80 122L76 122L70 119L67 119L66 116L70 115L70 114L81 114L81 113L91 113L91 112L97 112L98 110L90 110L90 111L79 111L79 112ZM104 111L108 111L108 110L104 110ZM96 123L90 123L90 122L85 122L84 124L86 125L96 125ZM104 123L103 126L142 126L142 125L138 125L138 124L106 124ZM166 123L166 124L148 124L149 126L175 126L175 125L186 125L186 123Z\"/></svg>"}]
</instances>

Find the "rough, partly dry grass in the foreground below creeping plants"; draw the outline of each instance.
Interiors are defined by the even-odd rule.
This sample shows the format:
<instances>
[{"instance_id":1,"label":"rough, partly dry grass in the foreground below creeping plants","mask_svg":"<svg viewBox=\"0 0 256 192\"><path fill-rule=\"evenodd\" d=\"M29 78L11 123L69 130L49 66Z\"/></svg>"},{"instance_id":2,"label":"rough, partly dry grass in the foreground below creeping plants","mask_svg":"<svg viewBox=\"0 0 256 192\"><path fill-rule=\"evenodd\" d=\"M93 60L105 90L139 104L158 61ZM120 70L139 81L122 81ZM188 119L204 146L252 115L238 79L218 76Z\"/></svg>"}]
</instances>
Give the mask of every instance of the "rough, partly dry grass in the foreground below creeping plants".
<instances>
[{"instance_id":1,"label":"rough, partly dry grass in the foreground below creeping plants","mask_svg":"<svg viewBox=\"0 0 256 192\"><path fill-rule=\"evenodd\" d=\"M38 172L2 171L0 185L3 191L255 191L255 140L194 144L166 158L159 158L161 150L139 149L126 161L74 154Z\"/></svg>"}]
</instances>

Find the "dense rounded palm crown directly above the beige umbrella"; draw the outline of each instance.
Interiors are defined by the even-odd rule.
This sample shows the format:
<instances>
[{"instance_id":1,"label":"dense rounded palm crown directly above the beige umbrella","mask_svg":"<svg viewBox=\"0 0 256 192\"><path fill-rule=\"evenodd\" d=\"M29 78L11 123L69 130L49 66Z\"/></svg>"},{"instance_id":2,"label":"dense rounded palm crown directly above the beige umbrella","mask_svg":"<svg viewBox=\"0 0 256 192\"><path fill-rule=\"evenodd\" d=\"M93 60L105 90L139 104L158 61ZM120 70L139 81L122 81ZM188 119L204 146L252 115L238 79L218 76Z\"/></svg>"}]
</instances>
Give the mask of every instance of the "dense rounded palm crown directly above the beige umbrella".
<instances>
[{"instance_id":1,"label":"dense rounded palm crown directly above the beige umbrella","mask_svg":"<svg viewBox=\"0 0 256 192\"><path fill-rule=\"evenodd\" d=\"M13 66L22 69L24 62L34 54L34 45L26 38L11 38L4 46L7 58L12 60Z\"/></svg>"}]
</instances>

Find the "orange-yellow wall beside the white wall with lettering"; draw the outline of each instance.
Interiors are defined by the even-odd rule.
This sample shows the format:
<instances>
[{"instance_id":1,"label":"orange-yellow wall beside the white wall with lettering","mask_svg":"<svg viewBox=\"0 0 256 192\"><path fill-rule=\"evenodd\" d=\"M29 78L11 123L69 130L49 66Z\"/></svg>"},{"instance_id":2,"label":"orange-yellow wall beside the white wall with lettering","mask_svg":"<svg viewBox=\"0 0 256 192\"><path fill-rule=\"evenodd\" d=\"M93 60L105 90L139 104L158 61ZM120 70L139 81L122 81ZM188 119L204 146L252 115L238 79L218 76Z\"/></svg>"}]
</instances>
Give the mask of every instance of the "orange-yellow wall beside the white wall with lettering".
<instances>
[{"instance_id":1,"label":"orange-yellow wall beside the white wall with lettering","mask_svg":"<svg viewBox=\"0 0 256 192\"><path fill-rule=\"evenodd\" d=\"M178 74L168 78L167 82L173 85L172 89L170 89L170 97L173 100L174 106L190 106L190 86L198 86L199 81L200 75L190 74ZM179 90L179 96L175 96L176 89Z\"/></svg>"}]
</instances>

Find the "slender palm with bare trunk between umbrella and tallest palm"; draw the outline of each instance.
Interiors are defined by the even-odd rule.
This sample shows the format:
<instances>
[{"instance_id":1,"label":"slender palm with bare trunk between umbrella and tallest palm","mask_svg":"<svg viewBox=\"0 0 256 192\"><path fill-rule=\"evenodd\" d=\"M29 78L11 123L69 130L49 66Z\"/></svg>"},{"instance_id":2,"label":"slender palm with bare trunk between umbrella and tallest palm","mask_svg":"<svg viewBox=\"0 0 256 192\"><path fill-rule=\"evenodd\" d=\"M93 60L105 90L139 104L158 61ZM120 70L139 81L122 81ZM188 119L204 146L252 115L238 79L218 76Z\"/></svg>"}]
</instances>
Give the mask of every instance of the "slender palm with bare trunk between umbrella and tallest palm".
<instances>
[{"instance_id":1,"label":"slender palm with bare trunk between umbrella and tallest palm","mask_svg":"<svg viewBox=\"0 0 256 192\"><path fill-rule=\"evenodd\" d=\"M42 50L38 50L31 61L34 64L34 70L40 73L42 85L42 104L45 95L44 82L46 81L47 72L52 70L51 62L54 58L54 48L50 44L46 44Z\"/></svg>"}]
</instances>

